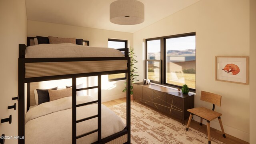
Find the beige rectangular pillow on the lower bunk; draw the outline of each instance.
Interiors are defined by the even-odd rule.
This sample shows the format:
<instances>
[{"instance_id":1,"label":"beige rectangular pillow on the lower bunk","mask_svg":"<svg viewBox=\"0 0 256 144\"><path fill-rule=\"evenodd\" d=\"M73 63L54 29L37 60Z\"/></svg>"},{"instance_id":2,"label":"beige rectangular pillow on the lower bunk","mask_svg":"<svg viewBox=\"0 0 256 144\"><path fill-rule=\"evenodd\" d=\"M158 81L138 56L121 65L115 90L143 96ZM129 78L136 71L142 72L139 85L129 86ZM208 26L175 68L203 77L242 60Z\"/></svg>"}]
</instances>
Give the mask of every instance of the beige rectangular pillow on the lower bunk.
<instances>
[{"instance_id":1,"label":"beige rectangular pillow on the lower bunk","mask_svg":"<svg viewBox=\"0 0 256 144\"><path fill-rule=\"evenodd\" d=\"M67 96L72 96L72 88L67 88L64 90L48 90L50 101L64 98Z\"/></svg>"}]
</instances>

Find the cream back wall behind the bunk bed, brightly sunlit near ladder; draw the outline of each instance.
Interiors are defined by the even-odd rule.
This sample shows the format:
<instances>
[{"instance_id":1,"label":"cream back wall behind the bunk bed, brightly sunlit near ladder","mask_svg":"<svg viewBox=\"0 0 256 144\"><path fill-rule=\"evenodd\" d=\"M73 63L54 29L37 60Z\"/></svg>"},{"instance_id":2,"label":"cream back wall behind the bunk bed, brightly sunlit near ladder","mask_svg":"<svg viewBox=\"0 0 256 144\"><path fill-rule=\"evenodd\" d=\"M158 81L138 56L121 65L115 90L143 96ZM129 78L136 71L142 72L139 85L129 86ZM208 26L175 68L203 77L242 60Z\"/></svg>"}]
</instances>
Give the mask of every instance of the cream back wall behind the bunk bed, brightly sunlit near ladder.
<instances>
[{"instance_id":1,"label":"cream back wall behind the bunk bed, brightly sunlit near ladder","mask_svg":"<svg viewBox=\"0 0 256 144\"><path fill-rule=\"evenodd\" d=\"M28 36L58 36L63 38L83 38L90 41L90 46L108 47L108 38L128 40L133 46L133 34L96 28L85 28L48 22L28 20ZM128 45L129 46L129 45ZM97 82L96 78L89 78L90 84ZM102 102L123 98L126 96L122 90L125 80L108 82L107 76L102 76ZM97 83L96 83L97 84ZM90 96L97 97L97 89L90 90Z\"/></svg>"}]
</instances>

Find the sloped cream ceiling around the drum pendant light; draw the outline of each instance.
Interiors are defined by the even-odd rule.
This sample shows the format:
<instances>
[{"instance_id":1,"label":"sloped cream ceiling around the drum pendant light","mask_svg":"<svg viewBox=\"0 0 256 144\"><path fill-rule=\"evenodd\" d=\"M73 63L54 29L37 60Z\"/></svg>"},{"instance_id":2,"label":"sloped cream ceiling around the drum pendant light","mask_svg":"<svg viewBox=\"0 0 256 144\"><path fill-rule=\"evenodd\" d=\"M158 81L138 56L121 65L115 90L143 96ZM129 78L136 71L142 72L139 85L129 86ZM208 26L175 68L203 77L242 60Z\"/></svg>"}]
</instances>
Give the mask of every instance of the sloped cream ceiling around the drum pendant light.
<instances>
[{"instance_id":1,"label":"sloped cream ceiling around the drum pendant light","mask_svg":"<svg viewBox=\"0 0 256 144\"><path fill-rule=\"evenodd\" d=\"M145 21L124 26L109 20L115 0L26 0L27 19L41 22L134 33L200 0L138 0L145 6Z\"/></svg>"}]
</instances>

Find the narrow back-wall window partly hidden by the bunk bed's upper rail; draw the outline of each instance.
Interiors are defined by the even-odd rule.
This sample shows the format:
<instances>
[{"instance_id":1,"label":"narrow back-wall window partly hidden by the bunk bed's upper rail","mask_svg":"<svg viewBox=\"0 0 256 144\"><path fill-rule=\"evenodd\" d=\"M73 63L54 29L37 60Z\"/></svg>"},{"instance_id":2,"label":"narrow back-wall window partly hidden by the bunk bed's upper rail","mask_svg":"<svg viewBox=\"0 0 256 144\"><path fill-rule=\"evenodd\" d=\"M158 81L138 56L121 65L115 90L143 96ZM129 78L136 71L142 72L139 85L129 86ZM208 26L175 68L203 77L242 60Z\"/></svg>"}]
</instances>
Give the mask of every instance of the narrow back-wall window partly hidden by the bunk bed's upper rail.
<instances>
[{"instance_id":1,"label":"narrow back-wall window partly hidden by the bunk bed's upper rail","mask_svg":"<svg viewBox=\"0 0 256 144\"><path fill-rule=\"evenodd\" d=\"M115 49L128 48L127 40L108 39L108 47L115 48ZM125 79L126 79L125 73L108 75L108 81L125 80Z\"/></svg>"}]
</instances>

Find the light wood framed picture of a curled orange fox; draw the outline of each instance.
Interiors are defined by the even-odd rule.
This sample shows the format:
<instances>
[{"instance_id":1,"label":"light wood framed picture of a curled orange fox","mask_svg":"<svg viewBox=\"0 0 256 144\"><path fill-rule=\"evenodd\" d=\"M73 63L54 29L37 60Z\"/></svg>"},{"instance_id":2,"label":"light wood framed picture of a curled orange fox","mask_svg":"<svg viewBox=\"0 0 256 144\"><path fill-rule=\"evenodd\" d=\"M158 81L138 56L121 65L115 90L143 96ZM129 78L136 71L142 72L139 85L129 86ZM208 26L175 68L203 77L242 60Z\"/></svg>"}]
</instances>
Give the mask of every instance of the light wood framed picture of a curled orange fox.
<instances>
[{"instance_id":1,"label":"light wood framed picture of a curled orange fox","mask_svg":"<svg viewBox=\"0 0 256 144\"><path fill-rule=\"evenodd\" d=\"M248 85L248 56L215 56L215 80Z\"/></svg>"}]
</instances>

